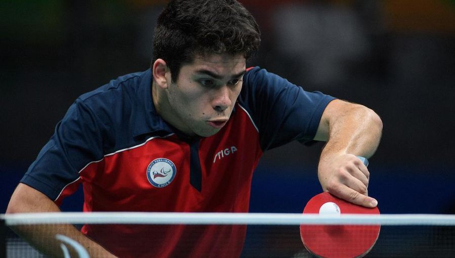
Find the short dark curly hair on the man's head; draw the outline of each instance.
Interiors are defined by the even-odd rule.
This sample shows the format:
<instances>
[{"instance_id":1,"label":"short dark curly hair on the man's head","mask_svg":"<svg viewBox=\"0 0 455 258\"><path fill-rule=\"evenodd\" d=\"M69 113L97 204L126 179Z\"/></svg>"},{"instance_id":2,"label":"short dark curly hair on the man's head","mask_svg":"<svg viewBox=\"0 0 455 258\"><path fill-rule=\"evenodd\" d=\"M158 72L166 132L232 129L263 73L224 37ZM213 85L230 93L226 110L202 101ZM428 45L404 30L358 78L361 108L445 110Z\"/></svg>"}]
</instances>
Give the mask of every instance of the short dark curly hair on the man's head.
<instances>
[{"instance_id":1,"label":"short dark curly hair on the man's head","mask_svg":"<svg viewBox=\"0 0 455 258\"><path fill-rule=\"evenodd\" d=\"M158 17L152 66L166 61L176 81L182 65L195 55L243 54L248 59L260 44L254 17L235 0L171 0Z\"/></svg>"}]
</instances>

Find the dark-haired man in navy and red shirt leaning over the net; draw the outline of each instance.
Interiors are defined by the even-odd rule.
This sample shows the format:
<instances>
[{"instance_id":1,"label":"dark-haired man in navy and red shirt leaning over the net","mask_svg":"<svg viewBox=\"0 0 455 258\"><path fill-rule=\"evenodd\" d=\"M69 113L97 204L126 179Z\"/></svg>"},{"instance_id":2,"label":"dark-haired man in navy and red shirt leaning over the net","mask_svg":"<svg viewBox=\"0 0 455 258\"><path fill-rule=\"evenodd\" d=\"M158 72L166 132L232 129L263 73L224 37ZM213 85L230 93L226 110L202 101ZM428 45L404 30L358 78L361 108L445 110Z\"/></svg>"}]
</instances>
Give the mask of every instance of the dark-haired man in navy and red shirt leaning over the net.
<instances>
[{"instance_id":1,"label":"dark-haired man in navy and red shirt leaning over the net","mask_svg":"<svg viewBox=\"0 0 455 258\"><path fill-rule=\"evenodd\" d=\"M151 68L111 80L74 102L7 213L60 211L62 199L80 184L84 211L248 212L262 153L295 140L327 141L318 167L325 191L376 206L368 197L369 171L356 156L374 154L379 116L305 92L259 67L247 69L259 42L254 18L236 1L171 1L155 28ZM41 230L49 239L32 234ZM241 253L246 227L16 231L51 255L62 255L58 242L50 241L63 233L93 257L233 257Z\"/></svg>"}]
</instances>

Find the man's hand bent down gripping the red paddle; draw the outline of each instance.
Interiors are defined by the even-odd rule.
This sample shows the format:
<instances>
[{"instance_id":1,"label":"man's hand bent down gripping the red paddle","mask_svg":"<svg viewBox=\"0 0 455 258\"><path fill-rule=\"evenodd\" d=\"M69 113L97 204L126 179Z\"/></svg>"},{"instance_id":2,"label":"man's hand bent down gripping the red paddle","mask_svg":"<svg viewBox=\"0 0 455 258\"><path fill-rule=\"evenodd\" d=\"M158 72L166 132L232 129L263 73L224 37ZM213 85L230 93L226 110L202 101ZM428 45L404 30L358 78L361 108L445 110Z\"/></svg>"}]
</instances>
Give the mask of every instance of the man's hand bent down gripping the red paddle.
<instances>
[{"instance_id":1,"label":"man's hand bent down gripping the red paddle","mask_svg":"<svg viewBox=\"0 0 455 258\"><path fill-rule=\"evenodd\" d=\"M378 205L376 199L368 196L370 172L357 156L324 156L317 174L324 191L357 205L372 208Z\"/></svg>"}]
</instances>

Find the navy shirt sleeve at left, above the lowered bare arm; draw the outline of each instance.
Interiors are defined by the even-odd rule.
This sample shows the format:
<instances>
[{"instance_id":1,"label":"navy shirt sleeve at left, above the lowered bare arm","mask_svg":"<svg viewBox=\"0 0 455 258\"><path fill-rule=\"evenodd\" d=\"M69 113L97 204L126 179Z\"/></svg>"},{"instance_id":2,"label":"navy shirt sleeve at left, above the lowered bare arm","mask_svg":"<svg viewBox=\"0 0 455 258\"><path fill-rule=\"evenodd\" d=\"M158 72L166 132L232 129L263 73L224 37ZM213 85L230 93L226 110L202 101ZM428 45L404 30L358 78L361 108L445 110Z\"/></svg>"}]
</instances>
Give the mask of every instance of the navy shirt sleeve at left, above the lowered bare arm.
<instances>
[{"instance_id":1,"label":"navy shirt sleeve at left, above the lowered bare arm","mask_svg":"<svg viewBox=\"0 0 455 258\"><path fill-rule=\"evenodd\" d=\"M76 191L82 168L103 157L103 130L97 121L96 114L80 99L76 100L21 183L42 192L57 204Z\"/></svg>"}]
</instances>

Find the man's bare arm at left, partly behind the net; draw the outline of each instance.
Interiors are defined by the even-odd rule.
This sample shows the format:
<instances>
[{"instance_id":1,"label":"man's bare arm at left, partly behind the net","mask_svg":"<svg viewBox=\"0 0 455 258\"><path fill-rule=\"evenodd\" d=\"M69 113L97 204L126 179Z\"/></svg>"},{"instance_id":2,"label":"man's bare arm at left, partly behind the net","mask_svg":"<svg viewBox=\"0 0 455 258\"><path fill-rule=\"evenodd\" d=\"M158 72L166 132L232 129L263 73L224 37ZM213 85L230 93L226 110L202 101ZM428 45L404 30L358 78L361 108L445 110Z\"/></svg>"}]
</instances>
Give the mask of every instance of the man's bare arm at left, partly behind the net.
<instances>
[{"instance_id":1,"label":"man's bare arm at left, partly behind the net","mask_svg":"<svg viewBox=\"0 0 455 258\"><path fill-rule=\"evenodd\" d=\"M61 212L60 208L46 195L25 184L19 183L14 191L6 213ZM24 240L51 257L62 257L61 242L56 234L65 235L79 242L90 257L115 257L101 245L92 241L72 225L21 225L11 227ZM72 248L69 248L70 252ZM77 255L71 253L71 257Z\"/></svg>"}]
</instances>

